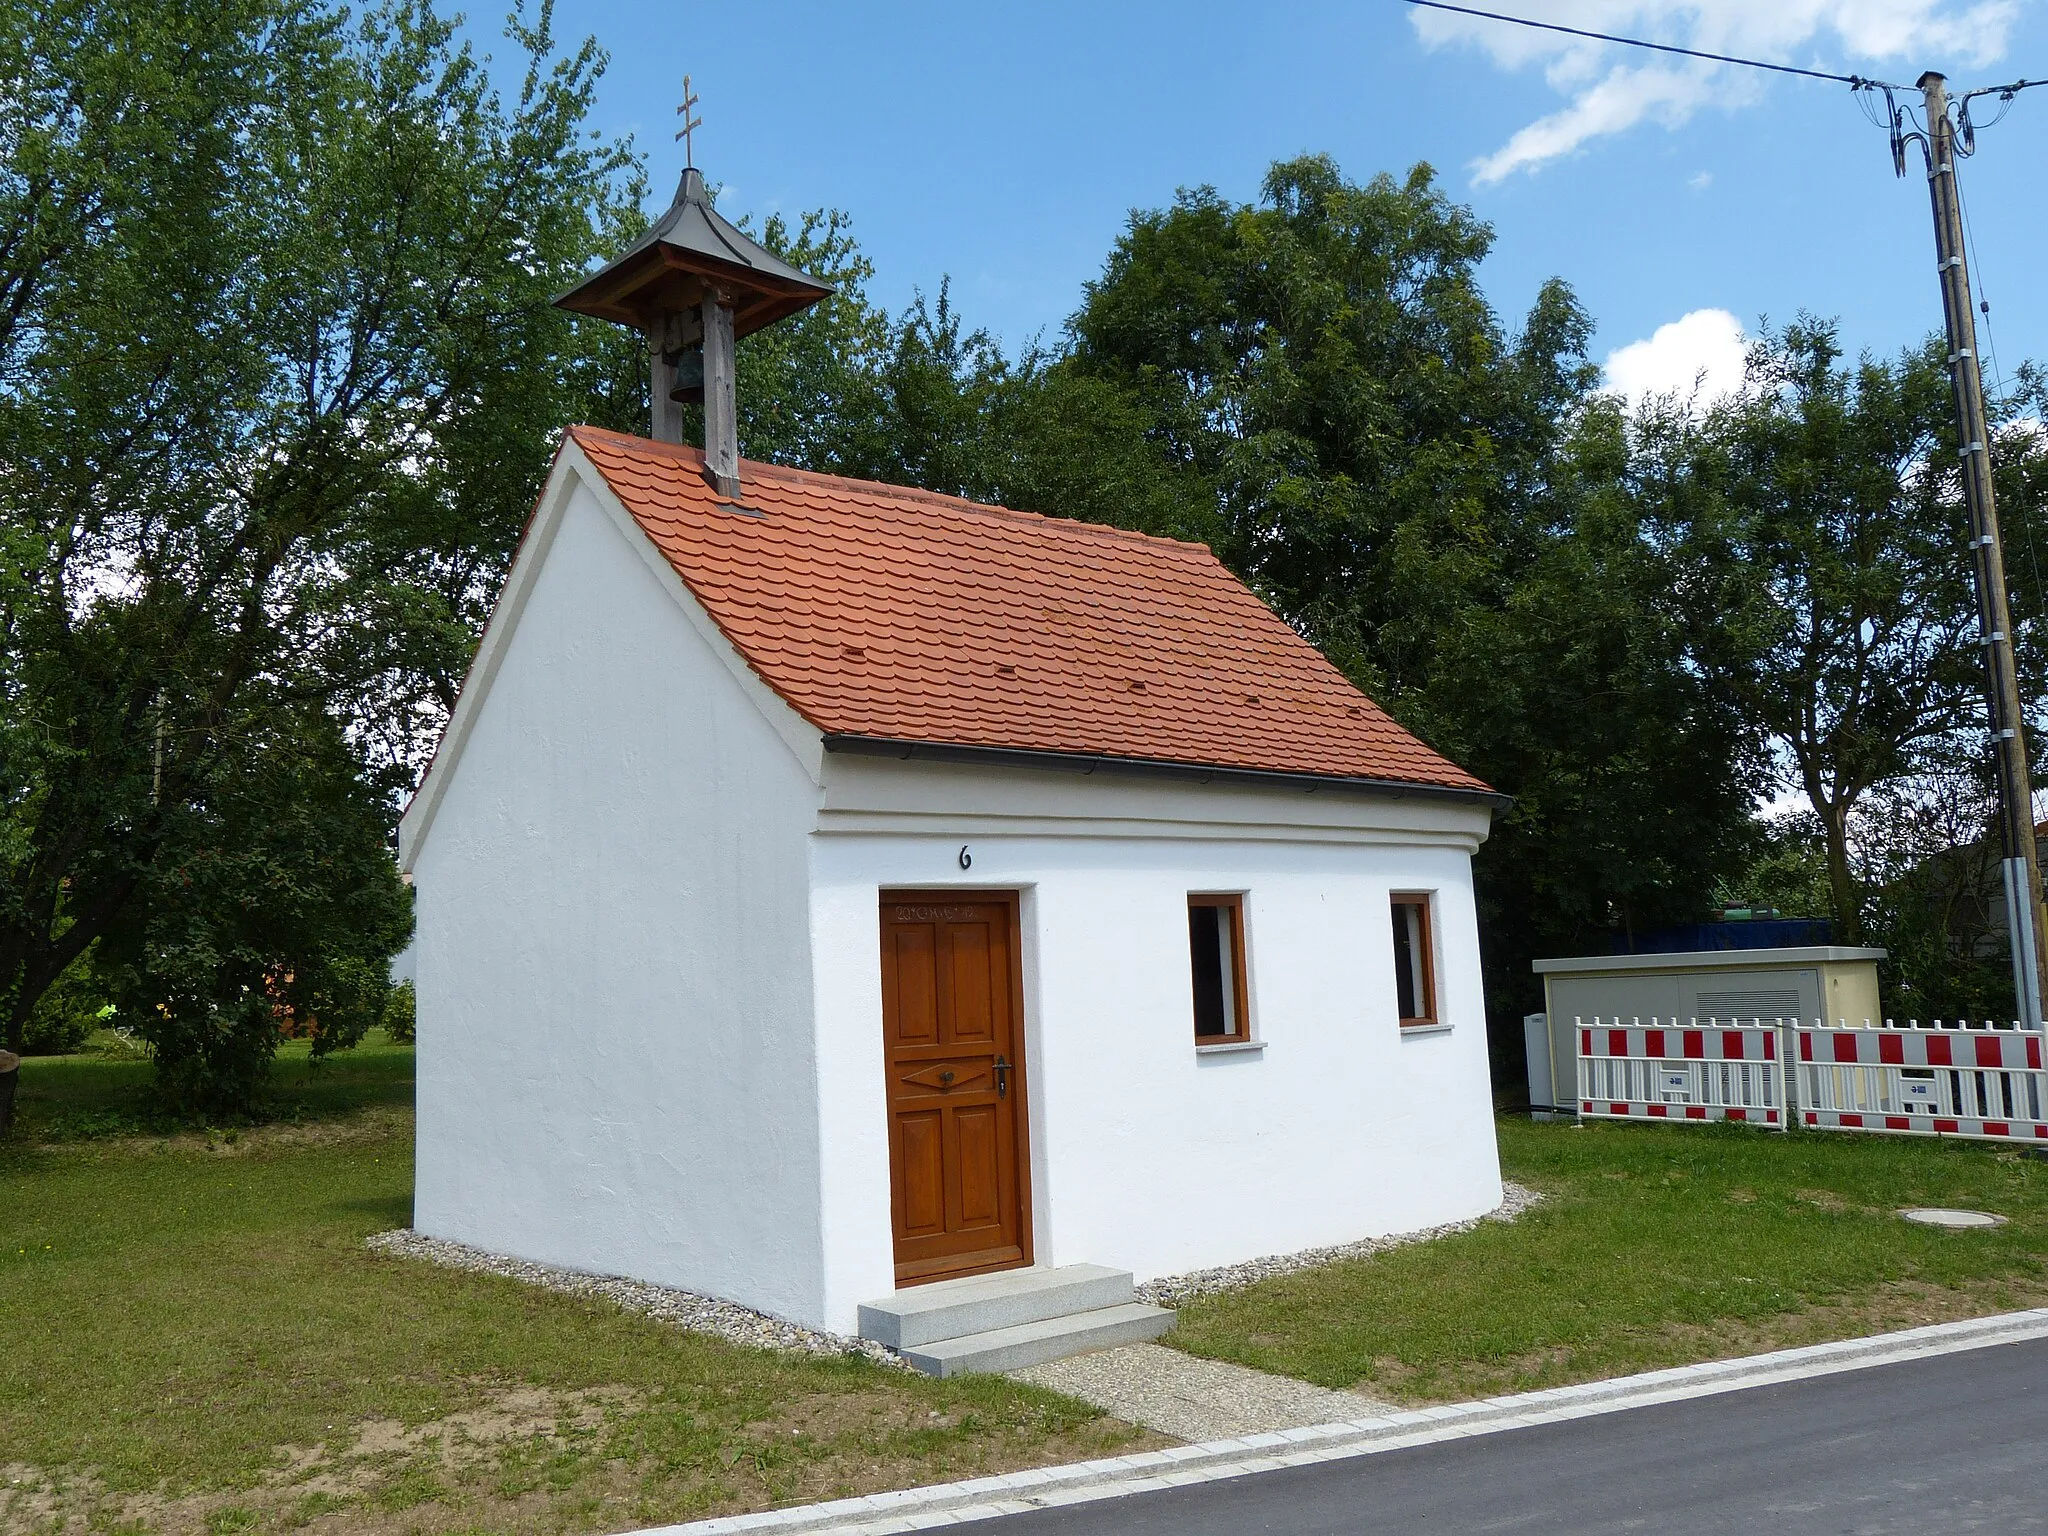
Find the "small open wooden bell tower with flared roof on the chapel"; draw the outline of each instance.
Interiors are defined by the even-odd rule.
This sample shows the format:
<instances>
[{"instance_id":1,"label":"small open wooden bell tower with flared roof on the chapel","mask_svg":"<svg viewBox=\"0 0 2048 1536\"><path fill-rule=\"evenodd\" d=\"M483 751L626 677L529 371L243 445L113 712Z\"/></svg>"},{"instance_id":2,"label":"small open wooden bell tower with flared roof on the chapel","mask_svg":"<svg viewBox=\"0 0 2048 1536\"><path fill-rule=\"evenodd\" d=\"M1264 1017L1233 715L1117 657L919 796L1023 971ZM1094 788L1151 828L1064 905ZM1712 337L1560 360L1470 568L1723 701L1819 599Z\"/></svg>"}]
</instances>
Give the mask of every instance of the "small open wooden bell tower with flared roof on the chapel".
<instances>
[{"instance_id":1,"label":"small open wooden bell tower with flared roof on the chapel","mask_svg":"<svg viewBox=\"0 0 2048 1536\"><path fill-rule=\"evenodd\" d=\"M739 418L733 346L741 336L831 295L711 207L696 166L676 201L639 240L555 303L631 326L647 338L649 436L682 442L682 408L705 408L705 477L739 498Z\"/></svg>"}]
</instances>

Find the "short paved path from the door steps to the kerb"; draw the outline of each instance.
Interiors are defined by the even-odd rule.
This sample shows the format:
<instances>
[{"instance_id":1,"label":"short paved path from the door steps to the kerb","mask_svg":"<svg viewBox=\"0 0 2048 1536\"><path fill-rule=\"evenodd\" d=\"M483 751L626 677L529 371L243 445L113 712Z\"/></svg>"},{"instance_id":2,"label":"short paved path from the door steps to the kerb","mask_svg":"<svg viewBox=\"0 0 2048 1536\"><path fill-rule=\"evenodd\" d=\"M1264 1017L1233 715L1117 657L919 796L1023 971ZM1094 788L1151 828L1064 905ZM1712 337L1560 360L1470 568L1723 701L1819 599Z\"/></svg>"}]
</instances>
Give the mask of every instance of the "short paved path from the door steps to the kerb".
<instances>
[{"instance_id":1,"label":"short paved path from the door steps to the kerb","mask_svg":"<svg viewBox=\"0 0 2048 1536\"><path fill-rule=\"evenodd\" d=\"M1225 1360L1198 1360L1161 1343L1126 1343L1010 1374L1196 1444L1395 1411L1393 1403L1364 1393L1311 1386Z\"/></svg>"}]
</instances>

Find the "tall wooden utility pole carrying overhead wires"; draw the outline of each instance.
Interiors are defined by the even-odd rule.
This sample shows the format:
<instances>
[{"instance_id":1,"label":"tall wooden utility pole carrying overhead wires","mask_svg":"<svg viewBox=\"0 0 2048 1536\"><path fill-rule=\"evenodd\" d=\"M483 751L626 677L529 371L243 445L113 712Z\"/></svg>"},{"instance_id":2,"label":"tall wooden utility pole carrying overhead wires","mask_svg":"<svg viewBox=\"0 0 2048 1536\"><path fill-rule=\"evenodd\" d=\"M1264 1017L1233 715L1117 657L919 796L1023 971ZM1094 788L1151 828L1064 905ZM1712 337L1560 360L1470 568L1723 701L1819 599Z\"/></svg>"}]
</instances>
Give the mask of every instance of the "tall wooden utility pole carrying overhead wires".
<instances>
[{"instance_id":1,"label":"tall wooden utility pole carrying overhead wires","mask_svg":"<svg viewBox=\"0 0 2048 1536\"><path fill-rule=\"evenodd\" d=\"M2028 741L2019 715L2019 674L2013 670L2013 616L2005 602L2005 555L1999 547L1999 508L1991 487L1991 428L1985 420L1985 375L1976 360L1976 311L1970 305L1970 268L1962 260L1962 205L1956 193L1956 125L1948 117L1948 80L1923 74L1927 106L1927 190L1933 199L1935 270L1942 276L1942 311L1948 322L1948 373L1956 387L1956 424L1962 432L1962 492L1970 506L1970 553L1976 565L1978 643L1985 647L1985 690L1999 752L1999 840L2005 850L2005 922L2013 948L2013 991L2019 1022L2044 1028L2042 956L2048 930L2042 922L2042 870L2034 846L2034 786Z\"/></svg>"}]
</instances>

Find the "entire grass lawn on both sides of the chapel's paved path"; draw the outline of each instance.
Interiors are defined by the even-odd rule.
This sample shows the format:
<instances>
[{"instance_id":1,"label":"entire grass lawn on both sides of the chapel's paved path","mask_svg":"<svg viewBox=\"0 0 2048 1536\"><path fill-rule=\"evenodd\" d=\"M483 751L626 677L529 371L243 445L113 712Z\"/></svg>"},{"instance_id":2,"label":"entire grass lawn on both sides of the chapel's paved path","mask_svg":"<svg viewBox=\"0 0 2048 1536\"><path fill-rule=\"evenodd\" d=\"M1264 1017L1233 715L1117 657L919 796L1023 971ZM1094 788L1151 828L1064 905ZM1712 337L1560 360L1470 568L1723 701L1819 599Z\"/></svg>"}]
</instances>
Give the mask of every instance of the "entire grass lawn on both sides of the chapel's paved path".
<instances>
[{"instance_id":1,"label":"entire grass lawn on both sides of the chapel's paved path","mask_svg":"<svg viewBox=\"0 0 2048 1536\"><path fill-rule=\"evenodd\" d=\"M31 1059L0 1143L0 1530L618 1532L1157 1438L1051 1393L741 1350L365 1249L412 1202L412 1051L170 1126ZM1184 1350L1452 1401L2048 1303L2048 1163L1739 1126L1499 1124L1520 1221L1188 1305ZM1903 1204L1997 1210L1909 1227Z\"/></svg>"}]
</instances>

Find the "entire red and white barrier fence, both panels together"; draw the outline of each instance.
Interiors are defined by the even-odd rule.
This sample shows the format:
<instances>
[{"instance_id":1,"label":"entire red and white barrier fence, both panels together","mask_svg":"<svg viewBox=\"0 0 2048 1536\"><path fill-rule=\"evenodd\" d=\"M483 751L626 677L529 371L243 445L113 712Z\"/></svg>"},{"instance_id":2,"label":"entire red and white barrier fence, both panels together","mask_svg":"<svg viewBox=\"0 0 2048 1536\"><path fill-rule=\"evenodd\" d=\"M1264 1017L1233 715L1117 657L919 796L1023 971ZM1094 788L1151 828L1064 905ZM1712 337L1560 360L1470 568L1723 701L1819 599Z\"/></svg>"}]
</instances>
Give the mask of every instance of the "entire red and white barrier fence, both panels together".
<instances>
[{"instance_id":1,"label":"entire red and white barrier fence, both panels together","mask_svg":"<svg viewBox=\"0 0 2048 1536\"><path fill-rule=\"evenodd\" d=\"M2044 1034L1798 1020L1575 1020L1579 1114L2048 1143Z\"/></svg>"}]
</instances>

